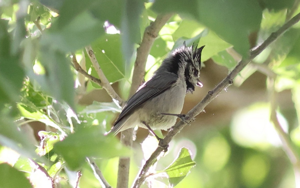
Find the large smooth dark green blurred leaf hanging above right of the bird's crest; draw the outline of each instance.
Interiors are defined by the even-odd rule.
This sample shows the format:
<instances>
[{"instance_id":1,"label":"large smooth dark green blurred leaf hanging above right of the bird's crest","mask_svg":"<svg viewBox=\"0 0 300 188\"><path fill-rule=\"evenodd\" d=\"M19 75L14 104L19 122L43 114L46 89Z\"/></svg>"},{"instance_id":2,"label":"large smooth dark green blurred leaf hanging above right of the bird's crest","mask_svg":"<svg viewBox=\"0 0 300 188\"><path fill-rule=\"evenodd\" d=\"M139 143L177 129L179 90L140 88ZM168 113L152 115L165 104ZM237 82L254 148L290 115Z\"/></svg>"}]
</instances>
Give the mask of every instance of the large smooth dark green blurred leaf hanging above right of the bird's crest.
<instances>
[{"instance_id":1,"label":"large smooth dark green blurred leaf hanging above right of the bird's crest","mask_svg":"<svg viewBox=\"0 0 300 188\"><path fill-rule=\"evenodd\" d=\"M259 29L262 10L257 1L199 1L199 21L224 41L232 44L243 57L249 50L248 35Z\"/></svg>"}]
</instances>

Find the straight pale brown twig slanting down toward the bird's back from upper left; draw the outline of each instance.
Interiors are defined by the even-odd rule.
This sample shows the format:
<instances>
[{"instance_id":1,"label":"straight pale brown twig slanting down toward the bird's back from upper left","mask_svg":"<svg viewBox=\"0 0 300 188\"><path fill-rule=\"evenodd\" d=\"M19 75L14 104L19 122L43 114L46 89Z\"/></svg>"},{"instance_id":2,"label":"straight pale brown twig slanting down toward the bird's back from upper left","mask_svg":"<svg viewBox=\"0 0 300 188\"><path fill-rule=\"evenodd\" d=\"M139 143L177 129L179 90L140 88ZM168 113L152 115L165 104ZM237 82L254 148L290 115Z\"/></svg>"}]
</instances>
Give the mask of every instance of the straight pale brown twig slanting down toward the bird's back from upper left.
<instances>
[{"instance_id":1,"label":"straight pale brown twig slanting down toward the bird's back from upper left","mask_svg":"<svg viewBox=\"0 0 300 188\"><path fill-rule=\"evenodd\" d=\"M95 57L95 53L90 45L85 47L86 53L88 54L88 57L91 59L91 62L99 76L99 79L101 80L101 86L107 91L107 93L111 96L114 102L117 102L118 105L122 106L123 100L119 97L119 95L116 93L116 91L113 89L113 87L110 85L110 82L105 77L102 69L100 68L100 65Z\"/></svg>"}]
</instances>

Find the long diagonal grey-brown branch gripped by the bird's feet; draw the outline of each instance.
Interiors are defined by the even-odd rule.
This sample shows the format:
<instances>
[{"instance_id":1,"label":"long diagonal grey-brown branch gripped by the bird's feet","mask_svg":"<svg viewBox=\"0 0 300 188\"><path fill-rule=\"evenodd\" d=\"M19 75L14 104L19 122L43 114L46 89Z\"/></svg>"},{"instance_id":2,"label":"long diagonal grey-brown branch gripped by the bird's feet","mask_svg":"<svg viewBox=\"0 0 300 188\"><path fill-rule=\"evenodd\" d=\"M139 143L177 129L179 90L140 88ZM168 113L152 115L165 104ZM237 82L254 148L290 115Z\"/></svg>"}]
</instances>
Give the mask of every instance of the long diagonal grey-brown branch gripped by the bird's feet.
<instances>
[{"instance_id":1,"label":"long diagonal grey-brown branch gripped by the bird's feet","mask_svg":"<svg viewBox=\"0 0 300 188\"><path fill-rule=\"evenodd\" d=\"M248 59L242 60L236 65L236 67L231 71L231 73L221 81L213 90L208 91L208 94L202 99L200 103L198 103L192 110L187 113L186 121L191 122L196 115L200 114L204 107L208 105L213 99L215 99L221 91L227 88L232 84L233 78L237 76L237 74L251 61L253 60L259 53L261 53L268 45L270 45L273 41L275 41L283 32L293 26L300 20L300 13L285 23L282 27L280 27L276 32L273 32L262 44L250 50L250 56ZM167 136L160 142L160 146L158 147L150 156L150 158L146 161L143 168L140 170L140 174L134 182L133 187L138 188L142 185L142 183L146 179L146 173L149 170L150 166L152 166L155 162L155 159L159 156L159 154L163 151L164 147L170 143L172 138L186 125L183 121L179 121L175 126L168 132Z\"/></svg>"}]
</instances>

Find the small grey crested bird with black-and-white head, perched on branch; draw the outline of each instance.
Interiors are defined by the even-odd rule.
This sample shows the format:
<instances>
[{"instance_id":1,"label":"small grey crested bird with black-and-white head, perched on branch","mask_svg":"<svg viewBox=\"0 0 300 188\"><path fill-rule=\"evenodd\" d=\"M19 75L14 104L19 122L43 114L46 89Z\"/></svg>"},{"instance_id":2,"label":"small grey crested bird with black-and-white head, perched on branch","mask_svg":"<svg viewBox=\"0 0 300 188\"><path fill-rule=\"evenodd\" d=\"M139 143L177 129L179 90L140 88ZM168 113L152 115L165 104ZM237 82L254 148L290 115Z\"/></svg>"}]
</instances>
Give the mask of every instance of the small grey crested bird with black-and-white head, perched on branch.
<instances>
[{"instance_id":1,"label":"small grey crested bird with black-and-white head, perched on branch","mask_svg":"<svg viewBox=\"0 0 300 188\"><path fill-rule=\"evenodd\" d=\"M126 102L110 132L116 135L138 126L155 135L153 130L171 128L178 117L184 121L181 111L185 95L192 93L195 86L203 86L199 80L203 48L194 44L186 46L184 41L170 53L153 76Z\"/></svg>"}]
</instances>

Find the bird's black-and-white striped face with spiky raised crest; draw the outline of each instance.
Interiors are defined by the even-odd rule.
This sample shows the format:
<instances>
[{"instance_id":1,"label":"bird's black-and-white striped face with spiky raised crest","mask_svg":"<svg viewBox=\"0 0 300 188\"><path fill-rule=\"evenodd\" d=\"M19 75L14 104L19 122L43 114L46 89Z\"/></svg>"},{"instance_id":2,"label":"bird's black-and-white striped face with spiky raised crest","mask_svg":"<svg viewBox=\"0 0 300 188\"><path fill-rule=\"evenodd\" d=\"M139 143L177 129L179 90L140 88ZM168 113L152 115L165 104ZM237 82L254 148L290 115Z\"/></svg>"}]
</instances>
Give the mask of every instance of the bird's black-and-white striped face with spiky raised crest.
<instances>
[{"instance_id":1,"label":"bird's black-and-white striped face with spiky raised crest","mask_svg":"<svg viewBox=\"0 0 300 188\"><path fill-rule=\"evenodd\" d=\"M187 84L187 92L193 92L195 86L202 86L198 79L201 70L201 51L204 46L197 48L194 46L186 47L185 43L182 48L175 50L181 62L184 62L184 76Z\"/></svg>"}]
</instances>

